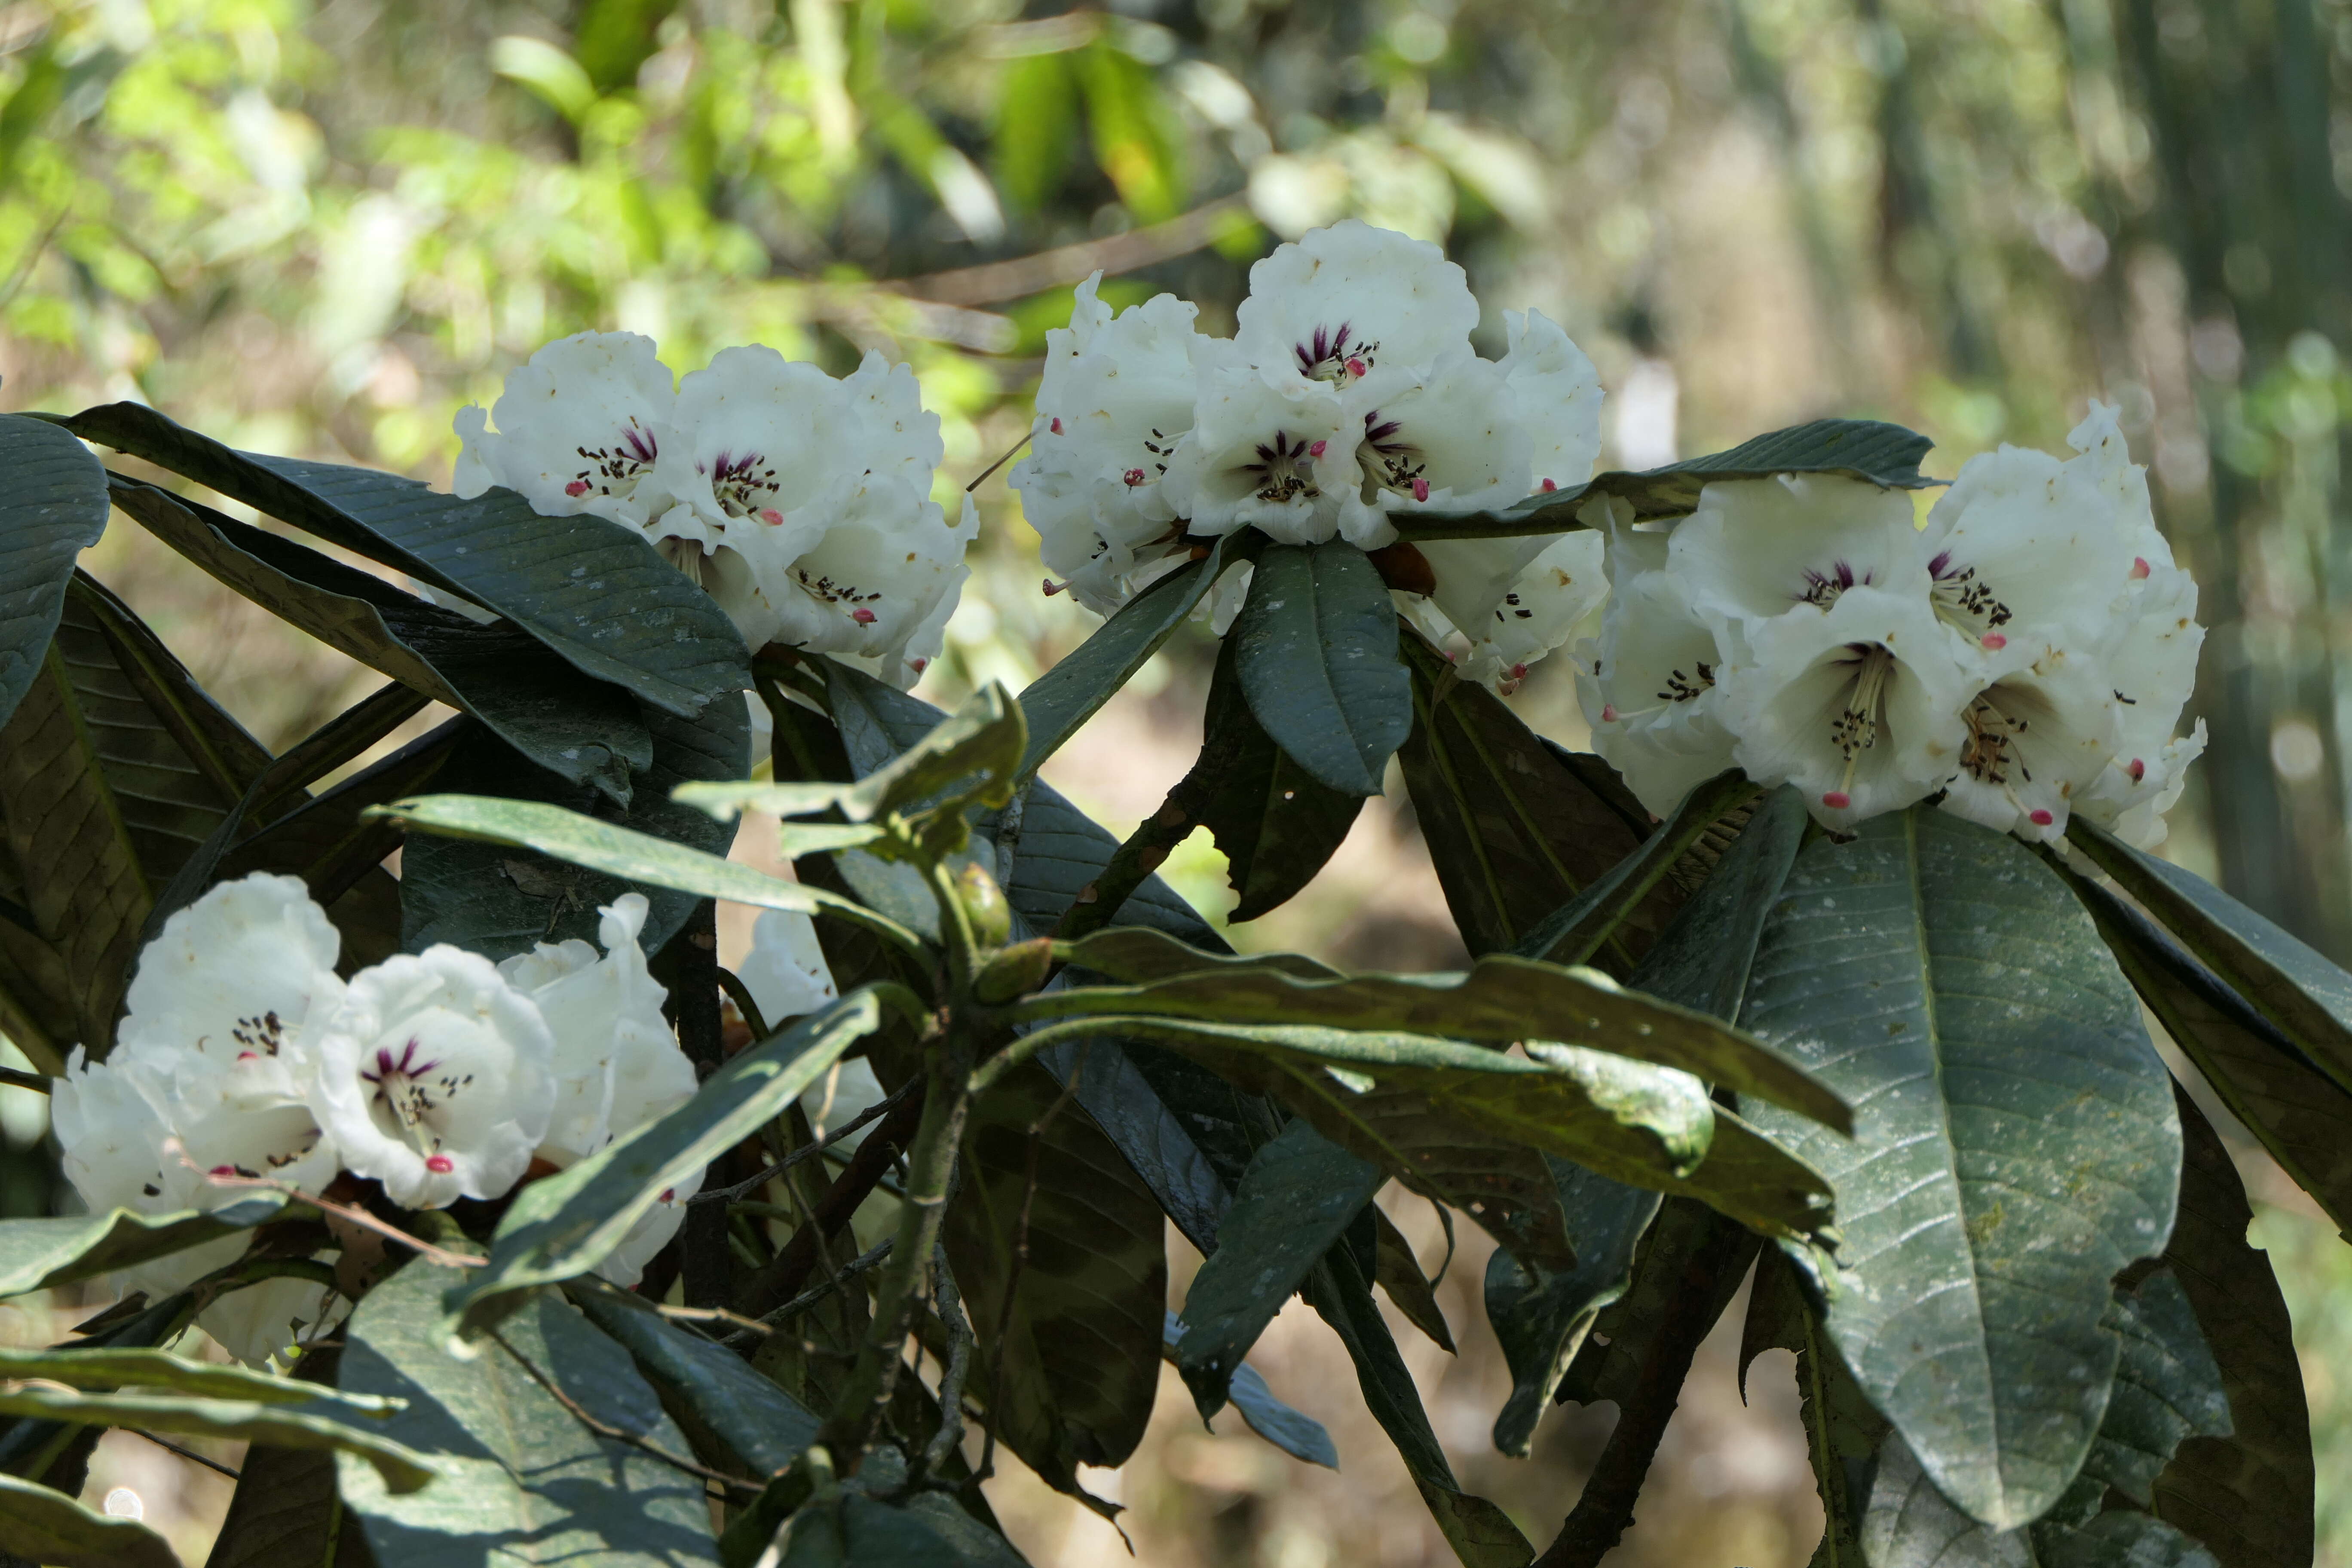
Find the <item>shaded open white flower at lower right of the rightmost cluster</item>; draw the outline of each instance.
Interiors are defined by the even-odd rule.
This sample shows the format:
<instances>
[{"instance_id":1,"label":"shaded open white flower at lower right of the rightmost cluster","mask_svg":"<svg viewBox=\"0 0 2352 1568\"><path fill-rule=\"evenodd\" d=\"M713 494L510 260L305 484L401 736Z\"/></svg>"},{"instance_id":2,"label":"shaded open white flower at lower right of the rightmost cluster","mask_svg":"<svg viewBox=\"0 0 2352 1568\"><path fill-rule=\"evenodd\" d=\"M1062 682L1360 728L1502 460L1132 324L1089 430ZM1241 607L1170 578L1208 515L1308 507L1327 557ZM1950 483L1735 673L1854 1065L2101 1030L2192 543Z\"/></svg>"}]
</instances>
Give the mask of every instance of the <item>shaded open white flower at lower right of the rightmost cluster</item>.
<instances>
[{"instance_id":1,"label":"shaded open white flower at lower right of the rightmost cluster","mask_svg":"<svg viewBox=\"0 0 2352 1568\"><path fill-rule=\"evenodd\" d=\"M2023 839L2056 842L2077 795L2114 755L2117 701L2103 651L2034 642L1992 654L1962 710L1966 741L1945 811Z\"/></svg>"}]
</instances>

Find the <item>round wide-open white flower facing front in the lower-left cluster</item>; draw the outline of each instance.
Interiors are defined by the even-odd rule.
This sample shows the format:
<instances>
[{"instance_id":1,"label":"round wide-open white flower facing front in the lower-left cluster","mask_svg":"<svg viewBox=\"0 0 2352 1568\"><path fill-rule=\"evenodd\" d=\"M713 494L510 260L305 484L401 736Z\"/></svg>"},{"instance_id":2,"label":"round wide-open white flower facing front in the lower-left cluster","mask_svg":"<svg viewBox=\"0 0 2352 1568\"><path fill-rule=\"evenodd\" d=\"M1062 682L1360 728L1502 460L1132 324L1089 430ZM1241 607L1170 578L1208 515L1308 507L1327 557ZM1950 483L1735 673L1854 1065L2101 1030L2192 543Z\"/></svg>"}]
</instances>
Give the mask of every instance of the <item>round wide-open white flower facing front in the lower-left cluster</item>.
<instances>
[{"instance_id":1,"label":"round wide-open white flower facing front in the lower-left cluster","mask_svg":"<svg viewBox=\"0 0 2352 1568\"><path fill-rule=\"evenodd\" d=\"M496 966L456 947L362 971L318 1041L310 1105L355 1175L407 1208L503 1194L548 1133L555 1041Z\"/></svg>"}]
</instances>

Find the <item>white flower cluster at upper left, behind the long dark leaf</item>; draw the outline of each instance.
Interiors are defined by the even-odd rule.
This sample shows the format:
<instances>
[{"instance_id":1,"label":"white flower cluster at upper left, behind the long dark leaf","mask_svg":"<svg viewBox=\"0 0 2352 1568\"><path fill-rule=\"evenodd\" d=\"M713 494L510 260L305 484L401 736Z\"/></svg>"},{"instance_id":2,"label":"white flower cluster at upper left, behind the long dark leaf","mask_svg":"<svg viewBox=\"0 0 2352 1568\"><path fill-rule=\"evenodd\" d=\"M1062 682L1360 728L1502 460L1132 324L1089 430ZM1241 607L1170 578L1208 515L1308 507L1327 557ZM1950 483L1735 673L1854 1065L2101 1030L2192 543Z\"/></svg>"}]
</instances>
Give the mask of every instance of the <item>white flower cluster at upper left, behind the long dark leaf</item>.
<instances>
[{"instance_id":1,"label":"white flower cluster at upper left, behind the long dark leaf","mask_svg":"<svg viewBox=\"0 0 2352 1568\"><path fill-rule=\"evenodd\" d=\"M456 430L459 496L503 484L536 512L642 531L753 649L830 654L906 689L969 576L971 501L953 527L931 501L938 416L882 355L835 381L727 348L673 386L652 339L583 331L508 374L489 414L461 409Z\"/></svg>"}]
</instances>

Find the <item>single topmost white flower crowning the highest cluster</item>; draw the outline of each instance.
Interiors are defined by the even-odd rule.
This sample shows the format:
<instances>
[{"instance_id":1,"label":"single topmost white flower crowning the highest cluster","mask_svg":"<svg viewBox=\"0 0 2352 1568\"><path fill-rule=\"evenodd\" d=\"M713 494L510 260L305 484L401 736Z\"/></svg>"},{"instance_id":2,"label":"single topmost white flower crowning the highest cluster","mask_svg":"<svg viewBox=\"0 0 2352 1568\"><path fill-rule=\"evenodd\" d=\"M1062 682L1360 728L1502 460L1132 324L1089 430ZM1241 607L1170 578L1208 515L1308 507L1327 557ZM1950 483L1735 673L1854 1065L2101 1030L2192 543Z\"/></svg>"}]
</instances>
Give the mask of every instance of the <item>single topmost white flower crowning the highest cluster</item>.
<instances>
[{"instance_id":1,"label":"single topmost white flower crowning the highest cluster","mask_svg":"<svg viewBox=\"0 0 2352 1568\"><path fill-rule=\"evenodd\" d=\"M1465 348L1477 315L1470 277L1439 247L1348 219L1249 268L1235 343L1268 369L1355 386Z\"/></svg>"}]
</instances>

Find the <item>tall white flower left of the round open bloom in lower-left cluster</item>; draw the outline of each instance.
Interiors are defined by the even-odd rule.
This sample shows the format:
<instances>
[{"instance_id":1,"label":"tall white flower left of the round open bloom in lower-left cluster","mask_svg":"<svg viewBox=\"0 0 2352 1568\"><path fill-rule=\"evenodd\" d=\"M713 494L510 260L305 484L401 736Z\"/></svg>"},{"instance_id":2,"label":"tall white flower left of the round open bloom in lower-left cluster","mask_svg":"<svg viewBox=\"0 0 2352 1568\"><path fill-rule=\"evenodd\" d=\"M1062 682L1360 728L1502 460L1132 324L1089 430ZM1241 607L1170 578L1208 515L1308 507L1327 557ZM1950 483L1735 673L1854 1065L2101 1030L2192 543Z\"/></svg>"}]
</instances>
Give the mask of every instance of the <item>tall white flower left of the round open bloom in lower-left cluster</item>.
<instances>
[{"instance_id":1,"label":"tall white flower left of the round open bloom in lower-left cluster","mask_svg":"<svg viewBox=\"0 0 2352 1568\"><path fill-rule=\"evenodd\" d=\"M315 1025L343 999L339 950L301 879L256 872L174 912L139 954L113 1065L195 1168L306 1192L334 1180L306 1091Z\"/></svg>"}]
</instances>

